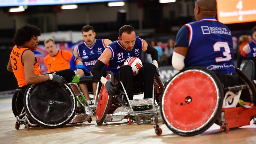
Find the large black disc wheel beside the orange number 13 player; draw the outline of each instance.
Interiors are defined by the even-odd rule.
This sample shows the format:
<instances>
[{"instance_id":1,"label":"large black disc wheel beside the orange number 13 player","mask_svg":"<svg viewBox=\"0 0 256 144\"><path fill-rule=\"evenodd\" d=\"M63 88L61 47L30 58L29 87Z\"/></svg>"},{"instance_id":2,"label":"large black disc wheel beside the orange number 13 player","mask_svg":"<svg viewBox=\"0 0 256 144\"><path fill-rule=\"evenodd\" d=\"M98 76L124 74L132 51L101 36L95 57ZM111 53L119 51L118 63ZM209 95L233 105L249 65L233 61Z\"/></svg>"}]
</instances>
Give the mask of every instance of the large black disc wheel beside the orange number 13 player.
<instances>
[{"instance_id":1,"label":"large black disc wheel beside the orange number 13 player","mask_svg":"<svg viewBox=\"0 0 256 144\"><path fill-rule=\"evenodd\" d=\"M59 128L75 115L76 99L68 85L46 81L32 84L25 92L24 107L29 118L45 128Z\"/></svg>"}]
</instances>

